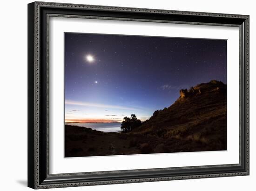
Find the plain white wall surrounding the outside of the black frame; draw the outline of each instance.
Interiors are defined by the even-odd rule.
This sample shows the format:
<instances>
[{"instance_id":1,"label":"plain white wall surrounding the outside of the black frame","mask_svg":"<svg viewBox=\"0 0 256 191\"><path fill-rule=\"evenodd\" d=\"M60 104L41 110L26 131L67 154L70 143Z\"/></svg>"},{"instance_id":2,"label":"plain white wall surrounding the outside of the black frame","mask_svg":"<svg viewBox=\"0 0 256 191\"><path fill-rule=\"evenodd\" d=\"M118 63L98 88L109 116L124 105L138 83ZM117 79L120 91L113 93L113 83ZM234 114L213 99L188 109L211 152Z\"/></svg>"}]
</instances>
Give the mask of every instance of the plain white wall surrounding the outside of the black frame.
<instances>
[{"instance_id":1,"label":"plain white wall surrounding the outside of the black frame","mask_svg":"<svg viewBox=\"0 0 256 191\"><path fill-rule=\"evenodd\" d=\"M79 191L255 189L256 180L256 12L252 0L52 0L54 2L250 15L250 176L61 188ZM0 11L0 190L27 188L27 3L1 2ZM52 190L52 189L50 189Z\"/></svg>"}]
</instances>

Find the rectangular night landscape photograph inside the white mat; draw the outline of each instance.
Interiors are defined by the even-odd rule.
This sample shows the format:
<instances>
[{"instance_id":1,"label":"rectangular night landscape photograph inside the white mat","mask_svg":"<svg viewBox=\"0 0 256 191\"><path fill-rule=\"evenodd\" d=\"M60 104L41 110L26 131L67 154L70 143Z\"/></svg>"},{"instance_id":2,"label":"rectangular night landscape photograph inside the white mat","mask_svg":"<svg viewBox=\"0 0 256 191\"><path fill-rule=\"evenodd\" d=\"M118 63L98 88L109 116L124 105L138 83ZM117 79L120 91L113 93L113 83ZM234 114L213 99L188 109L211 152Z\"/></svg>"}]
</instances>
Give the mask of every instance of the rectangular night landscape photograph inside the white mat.
<instances>
[{"instance_id":1,"label":"rectangular night landscape photograph inside the white mat","mask_svg":"<svg viewBox=\"0 0 256 191\"><path fill-rule=\"evenodd\" d=\"M227 40L64 33L65 158L227 150Z\"/></svg>"}]
</instances>

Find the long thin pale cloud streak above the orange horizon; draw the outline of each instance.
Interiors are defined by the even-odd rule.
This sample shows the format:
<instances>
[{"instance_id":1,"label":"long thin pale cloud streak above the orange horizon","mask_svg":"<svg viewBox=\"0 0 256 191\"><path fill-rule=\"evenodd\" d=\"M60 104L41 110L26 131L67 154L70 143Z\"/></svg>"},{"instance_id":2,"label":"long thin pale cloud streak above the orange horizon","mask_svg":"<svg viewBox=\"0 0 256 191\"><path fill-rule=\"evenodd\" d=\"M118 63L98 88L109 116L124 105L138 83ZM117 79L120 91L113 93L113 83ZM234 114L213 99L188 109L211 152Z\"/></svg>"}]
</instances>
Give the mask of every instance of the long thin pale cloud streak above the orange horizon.
<instances>
[{"instance_id":1,"label":"long thin pale cloud streak above the orange horizon","mask_svg":"<svg viewBox=\"0 0 256 191\"><path fill-rule=\"evenodd\" d=\"M124 109L124 110L138 110L134 107L125 107L121 105L105 105L105 104L95 104L89 102L65 100L66 105L81 105L81 106L90 106L90 107L101 107L101 108L114 108L114 109Z\"/></svg>"}]
</instances>

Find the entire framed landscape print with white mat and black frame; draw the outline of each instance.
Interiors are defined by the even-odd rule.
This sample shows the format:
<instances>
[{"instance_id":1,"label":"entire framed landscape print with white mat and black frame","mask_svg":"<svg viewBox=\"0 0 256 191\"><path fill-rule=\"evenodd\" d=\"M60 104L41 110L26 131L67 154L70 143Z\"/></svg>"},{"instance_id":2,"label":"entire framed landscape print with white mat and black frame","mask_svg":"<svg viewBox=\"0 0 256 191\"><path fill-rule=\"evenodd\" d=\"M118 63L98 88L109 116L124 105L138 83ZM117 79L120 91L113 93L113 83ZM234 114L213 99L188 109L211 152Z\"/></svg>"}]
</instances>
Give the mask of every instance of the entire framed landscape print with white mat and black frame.
<instances>
[{"instance_id":1,"label":"entire framed landscape print with white mat and black frame","mask_svg":"<svg viewBox=\"0 0 256 191\"><path fill-rule=\"evenodd\" d=\"M28 4L29 187L242 175L248 15Z\"/></svg>"}]
</instances>

